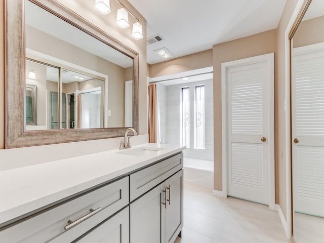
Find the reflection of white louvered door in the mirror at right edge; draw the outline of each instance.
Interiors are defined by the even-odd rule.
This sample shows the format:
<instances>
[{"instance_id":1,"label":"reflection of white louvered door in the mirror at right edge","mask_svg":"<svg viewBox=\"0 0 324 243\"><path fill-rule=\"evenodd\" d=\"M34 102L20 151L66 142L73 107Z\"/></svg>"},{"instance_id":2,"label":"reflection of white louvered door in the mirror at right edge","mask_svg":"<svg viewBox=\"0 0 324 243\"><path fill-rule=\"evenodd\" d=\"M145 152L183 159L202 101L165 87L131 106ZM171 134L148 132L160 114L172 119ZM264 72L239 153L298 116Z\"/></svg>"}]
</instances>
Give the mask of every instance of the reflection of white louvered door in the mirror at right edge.
<instances>
[{"instance_id":1,"label":"reflection of white louvered door in the mirror at right edge","mask_svg":"<svg viewBox=\"0 0 324 243\"><path fill-rule=\"evenodd\" d=\"M295 49L292 62L292 135L293 140L298 139L292 141L294 211L321 217L324 217L323 47L321 51L318 45Z\"/></svg>"}]
</instances>

